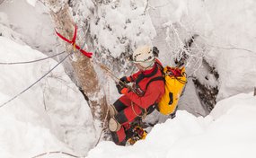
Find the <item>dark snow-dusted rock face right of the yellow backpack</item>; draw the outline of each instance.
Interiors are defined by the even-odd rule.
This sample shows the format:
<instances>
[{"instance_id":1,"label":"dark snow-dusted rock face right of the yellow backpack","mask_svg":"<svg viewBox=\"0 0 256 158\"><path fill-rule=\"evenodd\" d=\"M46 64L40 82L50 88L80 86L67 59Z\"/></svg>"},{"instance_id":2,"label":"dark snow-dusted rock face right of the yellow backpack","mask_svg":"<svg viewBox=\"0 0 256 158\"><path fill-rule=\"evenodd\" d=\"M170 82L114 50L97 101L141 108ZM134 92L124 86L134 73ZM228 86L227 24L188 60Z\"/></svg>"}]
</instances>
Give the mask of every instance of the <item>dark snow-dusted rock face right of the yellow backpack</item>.
<instances>
[{"instance_id":1,"label":"dark snow-dusted rock face right of the yellow backpack","mask_svg":"<svg viewBox=\"0 0 256 158\"><path fill-rule=\"evenodd\" d=\"M203 44L200 43L201 41L199 41L199 39L199 35L195 34L191 36L189 40L186 40L180 53L180 57L176 57L174 59L174 63L176 66L190 65L187 71L187 77L192 78L188 81L193 84L188 85L188 91L190 92L184 92L185 97L188 98L188 102L190 103L181 103L181 110L188 110L196 116L206 116L216 105L219 75L216 72L216 68L214 66L210 66L207 59L204 57L207 52L203 52L203 54L195 52L195 45L197 47L204 47ZM207 51L207 49L205 51ZM194 55L198 57L193 58ZM195 89L196 95L192 94L193 91L191 88Z\"/></svg>"}]
</instances>

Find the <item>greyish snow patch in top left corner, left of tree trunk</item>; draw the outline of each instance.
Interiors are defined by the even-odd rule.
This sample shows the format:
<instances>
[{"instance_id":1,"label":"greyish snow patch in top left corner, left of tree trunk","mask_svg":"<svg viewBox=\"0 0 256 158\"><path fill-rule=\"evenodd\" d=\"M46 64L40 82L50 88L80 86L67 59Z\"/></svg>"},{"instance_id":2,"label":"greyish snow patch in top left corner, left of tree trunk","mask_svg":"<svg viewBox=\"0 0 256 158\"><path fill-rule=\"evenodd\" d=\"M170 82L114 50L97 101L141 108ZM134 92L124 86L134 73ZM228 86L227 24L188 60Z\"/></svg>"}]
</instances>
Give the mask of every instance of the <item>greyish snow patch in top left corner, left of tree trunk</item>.
<instances>
[{"instance_id":1,"label":"greyish snow patch in top left corner, left of tree trunk","mask_svg":"<svg viewBox=\"0 0 256 158\"><path fill-rule=\"evenodd\" d=\"M8 15L9 27L22 34L24 42L44 54L57 54L56 48L52 47L56 45L57 38L48 11L40 2L30 2L33 5L26 3L26 0L4 1L0 10Z\"/></svg>"}]
</instances>

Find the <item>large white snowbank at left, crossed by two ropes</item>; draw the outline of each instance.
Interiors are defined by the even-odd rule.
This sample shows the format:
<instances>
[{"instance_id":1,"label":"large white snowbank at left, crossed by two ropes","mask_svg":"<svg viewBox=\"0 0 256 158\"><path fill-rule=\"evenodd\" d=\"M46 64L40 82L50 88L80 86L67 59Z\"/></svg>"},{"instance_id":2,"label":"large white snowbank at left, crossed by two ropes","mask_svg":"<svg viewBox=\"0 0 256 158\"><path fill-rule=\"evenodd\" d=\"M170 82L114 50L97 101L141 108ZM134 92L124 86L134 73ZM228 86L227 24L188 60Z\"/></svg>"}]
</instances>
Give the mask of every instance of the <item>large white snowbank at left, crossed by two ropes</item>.
<instances>
[{"instance_id":1,"label":"large white snowbank at left, crossed by two ropes","mask_svg":"<svg viewBox=\"0 0 256 158\"><path fill-rule=\"evenodd\" d=\"M0 37L1 62L46 57L27 45ZM52 59L27 65L1 65L1 105L45 75ZM0 148L5 157L30 157L49 151L85 154L95 143L92 114L62 66L0 110Z\"/></svg>"}]
</instances>

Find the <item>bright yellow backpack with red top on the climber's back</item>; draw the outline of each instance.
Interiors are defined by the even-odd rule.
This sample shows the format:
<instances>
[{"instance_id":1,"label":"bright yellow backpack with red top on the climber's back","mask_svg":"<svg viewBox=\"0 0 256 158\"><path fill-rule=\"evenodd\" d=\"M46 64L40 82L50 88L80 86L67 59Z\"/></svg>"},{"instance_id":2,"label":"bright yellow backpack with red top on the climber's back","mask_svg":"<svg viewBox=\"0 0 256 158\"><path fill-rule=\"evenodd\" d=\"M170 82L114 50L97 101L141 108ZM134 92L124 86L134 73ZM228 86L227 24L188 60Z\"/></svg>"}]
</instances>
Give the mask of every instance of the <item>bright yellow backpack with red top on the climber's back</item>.
<instances>
[{"instance_id":1,"label":"bright yellow backpack with red top on the climber's back","mask_svg":"<svg viewBox=\"0 0 256 158\"><path fill-rule=\"evenodd\" d=\"M161 101L158 103L158 110L163 115L170 115L175 112L181 92L187 83L185 67L170 67L163 68L165 80L165 92Z\"/></svg>"}]
</instances>

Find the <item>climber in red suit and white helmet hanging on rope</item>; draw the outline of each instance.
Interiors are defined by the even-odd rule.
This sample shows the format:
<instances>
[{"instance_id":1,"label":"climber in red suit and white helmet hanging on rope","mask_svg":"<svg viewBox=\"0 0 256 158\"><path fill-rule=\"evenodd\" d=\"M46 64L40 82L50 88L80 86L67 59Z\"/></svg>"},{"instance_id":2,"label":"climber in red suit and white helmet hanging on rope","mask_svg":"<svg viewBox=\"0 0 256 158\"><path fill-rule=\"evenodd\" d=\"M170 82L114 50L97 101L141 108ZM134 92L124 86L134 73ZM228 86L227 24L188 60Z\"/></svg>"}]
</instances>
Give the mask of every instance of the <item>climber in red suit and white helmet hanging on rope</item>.
<instances>
[{"instance_id":1,"label":"climber in red suit and white helmet hanging on rope","mask_svg":"<svg viewBox=\"0 0 256 158\"><path fill-rule=\"evenodd\" d=\"M123 95L109 107L109 128L117 145L126 145L128 139L125 132L126 125L135 118L153 111L163 96L163 66L155 57L155 49L157 50L149 46L137 48L132 60L139 71L134 75L121 77L119 79L121 82L117 83L117 89ZM155 78L158 79L154 80ZM134 91L124 83L133 83Z\"/></svg>"}]
</instances>

